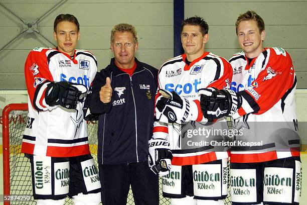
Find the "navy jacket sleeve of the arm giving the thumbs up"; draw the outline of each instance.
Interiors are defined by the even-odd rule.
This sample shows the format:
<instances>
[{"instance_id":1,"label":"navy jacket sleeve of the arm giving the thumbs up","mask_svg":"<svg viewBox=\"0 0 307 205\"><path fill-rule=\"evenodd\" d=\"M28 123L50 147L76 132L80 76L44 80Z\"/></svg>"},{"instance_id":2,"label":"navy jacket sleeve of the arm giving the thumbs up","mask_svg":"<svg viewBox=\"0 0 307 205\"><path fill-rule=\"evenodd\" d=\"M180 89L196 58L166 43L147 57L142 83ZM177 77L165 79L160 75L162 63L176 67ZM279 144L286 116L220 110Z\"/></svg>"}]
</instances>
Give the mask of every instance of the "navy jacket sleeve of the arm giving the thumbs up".
<instances>
[{"instance_id":1,"label":"navy jacket sleeve of the arm giving the thumbs up","mask_svg":"<svg viewBox=\"0 0 307 205\"><path fill-rule=\"evenodd\" d=\"M101 70L100 72L96 73L96 76L92 82L91 93L89 93L86 98L86 105L90 109L91 114L100 115L103 113L109 113L112 109L112 100L105 104L100 101L99 96L101 87L106 83L106 77L110 77L110 75L106 71Z\"/></svg>"}]
</instances>

